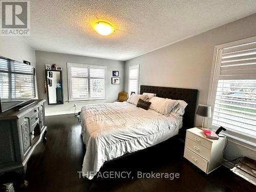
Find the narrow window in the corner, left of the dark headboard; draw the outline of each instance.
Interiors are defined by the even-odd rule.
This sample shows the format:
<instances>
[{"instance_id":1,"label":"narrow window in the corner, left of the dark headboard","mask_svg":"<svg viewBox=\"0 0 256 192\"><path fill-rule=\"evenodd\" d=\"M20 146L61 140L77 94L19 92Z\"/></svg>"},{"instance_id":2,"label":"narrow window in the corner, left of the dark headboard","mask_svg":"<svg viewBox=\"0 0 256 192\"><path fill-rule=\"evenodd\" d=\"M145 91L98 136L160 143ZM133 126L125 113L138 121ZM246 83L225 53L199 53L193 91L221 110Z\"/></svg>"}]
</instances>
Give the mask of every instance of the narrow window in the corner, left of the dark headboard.
<instances>
[{"instance_id":1,"label":"narrow window in the corner, left of the dark headboard","mask_svg":"<svg viewBox=\"0 0 256 192\"><path fill-rule=\"evenodd\" d=\"M138 94L139 69L139 65L129 67L129 94L131 94L131 92Z\"/></svg>"}]
</instances>

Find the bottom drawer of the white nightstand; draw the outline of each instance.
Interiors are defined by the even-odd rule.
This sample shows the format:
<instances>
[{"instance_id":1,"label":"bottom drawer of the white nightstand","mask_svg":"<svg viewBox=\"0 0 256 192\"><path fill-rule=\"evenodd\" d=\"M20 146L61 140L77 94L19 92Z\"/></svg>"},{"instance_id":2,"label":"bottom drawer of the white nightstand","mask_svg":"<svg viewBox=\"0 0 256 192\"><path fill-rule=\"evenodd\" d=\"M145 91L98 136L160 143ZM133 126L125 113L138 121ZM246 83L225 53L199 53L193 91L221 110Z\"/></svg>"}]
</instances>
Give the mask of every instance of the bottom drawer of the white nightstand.
<instances>
[{"instance_id":1,"label":"bottom drawer of the white nightstand","mask_svg":"<svg viewBox=\"0 0 256 192\"><path fill-rule=\"evenodd\" d=\"M202 169L204 172L207 171L207 165L208 161L206 161L204 158L200 157L199 155L195 154L194 152L191 152L188 150L188 148L185 147L184 150L184 157L190 161L191 163L198 166L200 169Z\"/></svg>"}]
</instances>

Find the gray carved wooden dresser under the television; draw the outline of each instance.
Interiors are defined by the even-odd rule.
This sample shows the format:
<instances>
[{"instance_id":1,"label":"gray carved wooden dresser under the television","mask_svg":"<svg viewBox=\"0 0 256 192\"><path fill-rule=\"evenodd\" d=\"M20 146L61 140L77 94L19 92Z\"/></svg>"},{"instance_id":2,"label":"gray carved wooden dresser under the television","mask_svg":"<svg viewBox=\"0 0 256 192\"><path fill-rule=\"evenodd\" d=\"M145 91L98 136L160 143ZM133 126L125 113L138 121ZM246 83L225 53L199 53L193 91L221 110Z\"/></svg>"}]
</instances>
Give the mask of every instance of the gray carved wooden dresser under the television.
<instances>
[{"instance_id":1,"label":"gray carved wooden dresser under the television","mask_svg":"<svg viewBox=\"0 0 256 192\"><path fill-rule=\"evenodd\" d=\"M17 107L0 114L0 174L24 175L36 145L45 138L45 99L31 101L23 110Z\"/></svg>"}]
</instances>

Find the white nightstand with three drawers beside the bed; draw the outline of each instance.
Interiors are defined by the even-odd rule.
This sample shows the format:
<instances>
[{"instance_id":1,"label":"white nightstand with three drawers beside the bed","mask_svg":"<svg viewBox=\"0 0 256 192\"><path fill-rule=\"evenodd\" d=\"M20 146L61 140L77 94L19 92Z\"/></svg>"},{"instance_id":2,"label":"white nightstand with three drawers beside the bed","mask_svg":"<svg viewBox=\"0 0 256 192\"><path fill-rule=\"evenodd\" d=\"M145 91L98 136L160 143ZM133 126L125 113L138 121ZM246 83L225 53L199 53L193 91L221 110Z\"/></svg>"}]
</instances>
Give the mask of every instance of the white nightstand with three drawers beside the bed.
<instances>
[{"instance_id":1,"label":"white nightstand with three drawers beside the bed","mask_svg":"<svg viewBox=\"0 0 256 192\"><path fill-rule=\"evenodd\" d=\"M209 174L221 166L225 143L226 137L220 137L218 140L208 139L201 129L197 127L188 129L184 157Z\"/></svg>"}]
</instances>

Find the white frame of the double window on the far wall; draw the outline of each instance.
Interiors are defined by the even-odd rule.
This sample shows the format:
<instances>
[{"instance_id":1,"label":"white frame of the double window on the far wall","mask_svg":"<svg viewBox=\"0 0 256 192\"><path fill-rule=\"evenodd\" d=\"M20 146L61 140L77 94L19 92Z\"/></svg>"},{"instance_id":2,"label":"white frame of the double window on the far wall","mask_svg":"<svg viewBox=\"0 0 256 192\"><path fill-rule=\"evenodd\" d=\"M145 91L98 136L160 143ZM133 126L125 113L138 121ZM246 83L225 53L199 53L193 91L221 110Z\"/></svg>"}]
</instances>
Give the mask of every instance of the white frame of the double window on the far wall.
<instances>
[{"instance_id":1,"label":"white frame of the double window on the far wall","mask_svg":"<svg viewBox=\"0 0 256 192\"><path fill-rule=\"evenodd\" d=\"M82 99L72 99L71 97L71 74L70 74L70 66L73 65L73 66L88 66L89 69L90 67L93 67L93 68L103 68L104 69L104 98L90 98L88 97L88 99L86 98L82 98ZM93 100L107 100L108 98L106 98L106 66L101 66L101 65L91 65L91 64L86 64L86 63L75 63L75 62L67 62L67 70L68 70L68 92L69 92L69 102L83 102L83 101L93 101ZM88 70L89 71L89 70ZM88 72L88 95L90 95L90 72ZM94 79L94 78L92 78ZM102 78L103 79L103 78Z\"/></svg>"}]
</instances>

